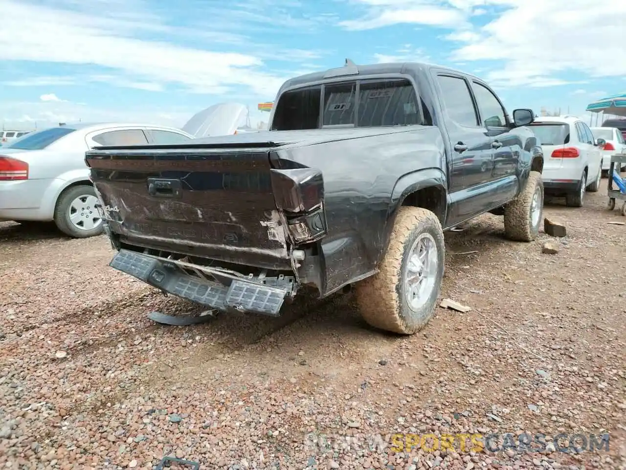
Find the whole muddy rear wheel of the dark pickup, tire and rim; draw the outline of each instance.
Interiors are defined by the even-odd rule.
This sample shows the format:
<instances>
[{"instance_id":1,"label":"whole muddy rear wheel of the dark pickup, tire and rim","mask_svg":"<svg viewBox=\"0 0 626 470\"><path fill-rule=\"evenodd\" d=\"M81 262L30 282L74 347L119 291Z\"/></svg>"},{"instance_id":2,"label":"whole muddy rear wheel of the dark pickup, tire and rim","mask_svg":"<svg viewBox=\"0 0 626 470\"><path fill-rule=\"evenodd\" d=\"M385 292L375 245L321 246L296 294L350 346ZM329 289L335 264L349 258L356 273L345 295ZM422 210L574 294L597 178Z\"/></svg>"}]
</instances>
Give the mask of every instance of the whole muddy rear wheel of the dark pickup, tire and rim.
<instances>
[{"instance_id":1,"label":"whole muddy rear wheel of the dark pickup, tire and rim","mask_svg":"<svg viewBox=\"0 0 626 470\"><path fill-rule=\"evenodd\" d=\"M421 330L436 308L445 250L443 230L433 212L401 207L378 273L355 286L364 320L403 335Z\"/></svg>"}]
</instances>

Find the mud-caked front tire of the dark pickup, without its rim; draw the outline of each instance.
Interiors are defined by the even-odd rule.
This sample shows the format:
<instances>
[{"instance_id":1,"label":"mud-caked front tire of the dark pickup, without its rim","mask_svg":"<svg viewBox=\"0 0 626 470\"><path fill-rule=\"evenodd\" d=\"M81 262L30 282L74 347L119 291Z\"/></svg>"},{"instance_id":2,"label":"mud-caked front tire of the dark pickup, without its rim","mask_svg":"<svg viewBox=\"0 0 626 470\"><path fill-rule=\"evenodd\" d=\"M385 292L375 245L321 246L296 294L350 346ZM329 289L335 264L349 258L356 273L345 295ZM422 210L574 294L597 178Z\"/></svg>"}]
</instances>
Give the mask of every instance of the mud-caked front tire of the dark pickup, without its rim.
<instances>
[{"instance_id":1,"label":"mud-caked front tire of the dark pickup, without its rim","mask_svg":"<svg viewBox=\"0 0 626 470\"><path fill-rule=\"evenodd\" d=\"M541 191L541 207L539 221L535 226L532 223L531 205L535 191ZM543 180L541 173L531 171L528 175L526 187L513 201L505 204L505 236L513 241L533 241L537 238L541 217L543 216Z\"/></svg>"}]
</instances>

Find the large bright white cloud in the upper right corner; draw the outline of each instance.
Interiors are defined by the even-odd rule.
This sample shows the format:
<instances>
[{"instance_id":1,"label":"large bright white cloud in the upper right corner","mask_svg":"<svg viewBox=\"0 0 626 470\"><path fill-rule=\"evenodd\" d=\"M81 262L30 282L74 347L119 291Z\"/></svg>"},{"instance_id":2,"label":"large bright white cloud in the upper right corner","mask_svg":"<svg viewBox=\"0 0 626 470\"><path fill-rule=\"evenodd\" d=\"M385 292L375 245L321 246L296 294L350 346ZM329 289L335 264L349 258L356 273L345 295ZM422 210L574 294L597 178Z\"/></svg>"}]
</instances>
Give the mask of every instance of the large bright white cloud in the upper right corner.
<instances>
[{"instance_id":1,"label":"large bright white cloud in the upper right corner","mask_svg":"<svg viewBox=\"0 0 626 470\"><path fill-rule=\"evenodd\" d=\"M626 62L615 60L623 55L623 0L605 0L601 8L589 0L484 3L509 9L471 34L451 39L464 43L453 60L500 61L503 70L489 73L487 80L555 86L581 83L581 73L591 78L626 75Z\"/></svg>"}]
</instances>

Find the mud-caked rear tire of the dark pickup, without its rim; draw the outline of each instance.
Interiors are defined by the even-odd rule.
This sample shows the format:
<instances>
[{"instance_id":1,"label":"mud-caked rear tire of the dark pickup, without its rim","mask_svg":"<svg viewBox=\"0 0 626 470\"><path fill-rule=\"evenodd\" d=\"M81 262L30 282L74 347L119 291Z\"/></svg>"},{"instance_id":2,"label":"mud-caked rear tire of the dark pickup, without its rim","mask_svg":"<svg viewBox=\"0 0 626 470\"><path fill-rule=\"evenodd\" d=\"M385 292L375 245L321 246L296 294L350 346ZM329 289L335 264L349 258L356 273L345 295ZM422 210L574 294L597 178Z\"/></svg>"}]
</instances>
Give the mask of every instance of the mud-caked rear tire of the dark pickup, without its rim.
<instances>
[{"instance_id":1,"label":"mud-caked rear tire of the dark pickup, without its rim","mask_svg":"<svg viewBox=\"0 0 626 470\"><path fill-rule=\"evenodd\" d=\"M403 273L414 241L424 232L433 237L437 248L436 278L428 301L418 311L413 311L406 300ZM443 230L433 212L419 207L400 207L378 273L355 286L357 305L364 320L374 328L403 335L421 330L436 308L445 249Z\"/></svg>"}]
</instances>

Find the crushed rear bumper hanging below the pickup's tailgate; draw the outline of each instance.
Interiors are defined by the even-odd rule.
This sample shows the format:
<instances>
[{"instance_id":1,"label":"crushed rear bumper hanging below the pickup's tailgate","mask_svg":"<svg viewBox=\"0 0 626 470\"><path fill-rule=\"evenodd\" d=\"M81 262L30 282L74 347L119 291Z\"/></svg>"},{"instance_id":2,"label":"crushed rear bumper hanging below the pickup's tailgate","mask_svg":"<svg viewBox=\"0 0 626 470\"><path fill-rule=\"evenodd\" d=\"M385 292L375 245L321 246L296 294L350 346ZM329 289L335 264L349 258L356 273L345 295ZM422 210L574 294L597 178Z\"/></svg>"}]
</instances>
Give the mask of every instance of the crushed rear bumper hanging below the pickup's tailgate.
<instances>
[{"instance_id":1,"label":"crushed rear bumper hanging below the pickup's tailgate","mask_svg":"<svg viewBox=\"0 0 626 470\"><path fill-rule=\"evenodd\" d=\"M121 249L109 263L148 285L220 311L279 316L285 297L295 295L293 276L243 276L174 259Z\"/></svg>"}]
</instances>

